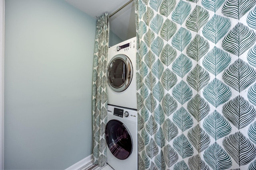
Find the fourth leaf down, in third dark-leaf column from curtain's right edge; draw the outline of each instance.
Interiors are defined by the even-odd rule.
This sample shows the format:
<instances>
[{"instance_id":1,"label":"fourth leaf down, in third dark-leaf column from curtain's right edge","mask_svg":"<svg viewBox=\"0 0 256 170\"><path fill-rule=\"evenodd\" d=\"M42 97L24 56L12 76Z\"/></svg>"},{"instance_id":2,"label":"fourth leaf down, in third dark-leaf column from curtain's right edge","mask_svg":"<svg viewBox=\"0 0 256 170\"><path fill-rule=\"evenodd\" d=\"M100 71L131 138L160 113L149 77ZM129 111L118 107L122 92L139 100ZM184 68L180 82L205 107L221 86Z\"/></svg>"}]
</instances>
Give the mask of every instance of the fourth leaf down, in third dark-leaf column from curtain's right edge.
<instances>
[{"instance_id":1,"label":"fourth leaf down, in third dark-leaf column from curtain's right edge","mask_svg":"<svg viewBox=\"0 0 256 170\"><path fill-rule=\"evenodd\" d=\"M170 90L177 83L177 76L168 68L162 74L162 85L166 90Z\"/></svg>"}]
</instances>

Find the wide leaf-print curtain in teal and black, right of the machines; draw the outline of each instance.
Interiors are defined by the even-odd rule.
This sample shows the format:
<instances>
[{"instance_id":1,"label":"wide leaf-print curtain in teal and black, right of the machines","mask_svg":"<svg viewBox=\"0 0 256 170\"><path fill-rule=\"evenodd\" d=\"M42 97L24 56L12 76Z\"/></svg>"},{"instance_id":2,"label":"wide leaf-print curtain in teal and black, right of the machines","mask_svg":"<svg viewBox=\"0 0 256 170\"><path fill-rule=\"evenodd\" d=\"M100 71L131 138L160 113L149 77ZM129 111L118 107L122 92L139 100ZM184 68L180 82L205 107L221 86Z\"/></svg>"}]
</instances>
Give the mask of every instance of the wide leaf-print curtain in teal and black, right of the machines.
<instances>
[{"instance_id":1,"label":"wide leaf-print curtain in teal and black, right of the machines","mask_svg":"<svg viewBox=\"0 0 256 170\"><path fill-rule=\"evenodd\" d=\"M139 169L256 170L256 0L135 0Z\"/></svg>"}]
</instances>

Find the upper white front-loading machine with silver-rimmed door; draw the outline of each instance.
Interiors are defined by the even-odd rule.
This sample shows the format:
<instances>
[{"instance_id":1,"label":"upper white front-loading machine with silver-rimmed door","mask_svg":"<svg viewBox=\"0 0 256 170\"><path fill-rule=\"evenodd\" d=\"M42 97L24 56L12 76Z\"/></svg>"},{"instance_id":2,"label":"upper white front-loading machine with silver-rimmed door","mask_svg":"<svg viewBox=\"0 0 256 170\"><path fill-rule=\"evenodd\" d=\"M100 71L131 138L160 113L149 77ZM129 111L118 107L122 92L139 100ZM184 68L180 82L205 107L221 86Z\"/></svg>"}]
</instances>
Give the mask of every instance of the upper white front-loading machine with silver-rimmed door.
<instances>
[{"instance_id":1,"label":"upper white front-loading machine with silver-rimmed door","mask_svg":"<svg viewBox=\"0 0 256 170\"><path fill-rule=\"evenodd\" d=\"M108 104L137 109L136 37L108 49Z\"/></svg>"}]
</instances>

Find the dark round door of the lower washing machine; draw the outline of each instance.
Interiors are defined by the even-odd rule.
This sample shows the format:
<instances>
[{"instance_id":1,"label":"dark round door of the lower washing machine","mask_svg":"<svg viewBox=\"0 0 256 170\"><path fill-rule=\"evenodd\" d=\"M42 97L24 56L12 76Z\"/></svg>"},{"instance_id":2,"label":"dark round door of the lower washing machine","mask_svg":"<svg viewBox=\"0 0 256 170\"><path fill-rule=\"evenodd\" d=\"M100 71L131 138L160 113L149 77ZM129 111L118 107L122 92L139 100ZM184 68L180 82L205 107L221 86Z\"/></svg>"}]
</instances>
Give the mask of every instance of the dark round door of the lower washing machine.
<instances>
[{"instance_id":1,"label":"dark round door of the lower washing machine","mask_svg":"<svg viewBox=\"0 0 256 170\"><path fill-rule=\"evenodd\" d=\"M124 160L132 153L132 137L126 126L118 120L108 121L105 137L110 152L118 159Z\"/></svg>"}]
</instances>

